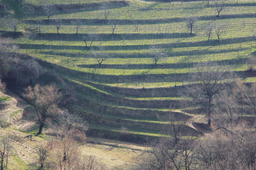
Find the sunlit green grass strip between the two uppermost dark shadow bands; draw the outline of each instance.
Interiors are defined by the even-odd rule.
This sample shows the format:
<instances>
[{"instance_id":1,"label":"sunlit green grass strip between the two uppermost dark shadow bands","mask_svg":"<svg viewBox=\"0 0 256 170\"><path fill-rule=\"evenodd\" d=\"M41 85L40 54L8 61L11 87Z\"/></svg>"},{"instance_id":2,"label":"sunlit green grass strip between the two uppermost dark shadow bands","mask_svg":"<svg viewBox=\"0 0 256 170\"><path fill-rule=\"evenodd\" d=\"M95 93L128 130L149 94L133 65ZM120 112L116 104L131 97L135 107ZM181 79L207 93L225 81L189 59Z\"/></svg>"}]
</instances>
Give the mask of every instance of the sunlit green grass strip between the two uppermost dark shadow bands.
<instances>
[{"instance_id":1,"label":"sunlit green grass strip between the two uppermost dark shadow bands","mask_svg":"<svg viewBox=\"0 0 256 170\"><path fill-rule=\"evenodd\" d=\"M215 17L217 14L216 8L214 6L208 8L176 8L176 10L170 9L161 9L154 8L152 10L140 10L141 6L137 8L131 8L133 11L134 20L140 19L168 19L168 18L186 18L187 14L193 14L195 17L207 17L212 16ZM111 15L109 19L121 19L121 20L131 20L131 16L127 13L128 7L118 8L118 9L109 9ZM246 11L246 12L245 12ZM221 15L235 15L235 14L254 14L255 6L227 6L223 11L221 11ZM105 19L104 11L96 10L96 11L85 11L73 14L57 14L53 17L59 18L80 18L80 19Z\"/></svg>"}]
</instances>

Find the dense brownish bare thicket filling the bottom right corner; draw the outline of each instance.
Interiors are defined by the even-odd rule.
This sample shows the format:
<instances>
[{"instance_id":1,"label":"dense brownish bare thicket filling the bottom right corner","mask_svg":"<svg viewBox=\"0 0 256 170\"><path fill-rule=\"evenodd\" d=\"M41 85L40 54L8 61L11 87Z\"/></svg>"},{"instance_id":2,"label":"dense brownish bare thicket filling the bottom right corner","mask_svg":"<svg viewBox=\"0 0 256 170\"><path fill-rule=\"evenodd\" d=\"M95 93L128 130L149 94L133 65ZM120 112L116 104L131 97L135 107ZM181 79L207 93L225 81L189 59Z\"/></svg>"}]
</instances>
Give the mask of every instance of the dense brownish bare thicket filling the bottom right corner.
<instances>
[{"instance_id":1,"label":"dense brownish bare thicket filling the bottom right corner","mask_svg":"<svg viewBox=\"0 0 256 170\"><path fill-rule=\"evenodd\" d=\"M247 123L246 123L247 124ZM198 170L254 170L255 130L244 123L216 130L198 144Z\"/></svg>"}]
</instances>

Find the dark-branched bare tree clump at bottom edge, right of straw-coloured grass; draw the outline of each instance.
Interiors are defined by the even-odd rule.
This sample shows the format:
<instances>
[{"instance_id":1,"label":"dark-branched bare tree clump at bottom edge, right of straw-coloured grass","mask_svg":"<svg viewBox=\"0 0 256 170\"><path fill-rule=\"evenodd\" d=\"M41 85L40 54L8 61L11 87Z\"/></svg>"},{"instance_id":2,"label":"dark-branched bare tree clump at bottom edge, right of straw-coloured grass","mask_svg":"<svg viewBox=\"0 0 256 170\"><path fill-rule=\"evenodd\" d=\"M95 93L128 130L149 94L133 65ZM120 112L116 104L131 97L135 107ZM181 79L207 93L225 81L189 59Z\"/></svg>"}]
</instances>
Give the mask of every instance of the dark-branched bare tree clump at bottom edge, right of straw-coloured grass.
<instances>
[{"instance_id":1,"label":"dark-branched bare tree clump at bottom edge, right of straw-coloured grass","mask_svg":"<svg viewBox=\"0 0 256 170\"><path fill-rule=\"evenodd\" d=\"M151 142L152 150L140 164L140 170L192 170L196 167L195 143L192 137L175 140L161 138Z\"/></svg>"}]
</instances>

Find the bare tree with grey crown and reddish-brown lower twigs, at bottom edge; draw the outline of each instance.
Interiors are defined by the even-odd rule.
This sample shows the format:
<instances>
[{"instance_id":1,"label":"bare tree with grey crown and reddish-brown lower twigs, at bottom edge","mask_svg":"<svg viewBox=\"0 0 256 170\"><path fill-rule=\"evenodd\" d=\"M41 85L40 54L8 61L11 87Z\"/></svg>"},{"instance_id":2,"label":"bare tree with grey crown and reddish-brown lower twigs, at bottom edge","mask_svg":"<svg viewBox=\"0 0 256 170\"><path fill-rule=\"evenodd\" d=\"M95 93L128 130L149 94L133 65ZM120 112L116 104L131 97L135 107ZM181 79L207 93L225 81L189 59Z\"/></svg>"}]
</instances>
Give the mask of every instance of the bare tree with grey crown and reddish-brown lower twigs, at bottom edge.
<instances>
[{"instance_id":1,"label":"bare tree with grey crown and reddish-brown lower twigs, at bottom edge","mask_svg":"<svg viewBox=\"0 0 256 170\"><path fill-rule=\"evenodd\" d=\"M73 170L80 158L80 146L85 141L84 121L67 111L61 113L56 134L59 140L55 142L55 156L61 170Z\"/></svg>"}]
</instances>

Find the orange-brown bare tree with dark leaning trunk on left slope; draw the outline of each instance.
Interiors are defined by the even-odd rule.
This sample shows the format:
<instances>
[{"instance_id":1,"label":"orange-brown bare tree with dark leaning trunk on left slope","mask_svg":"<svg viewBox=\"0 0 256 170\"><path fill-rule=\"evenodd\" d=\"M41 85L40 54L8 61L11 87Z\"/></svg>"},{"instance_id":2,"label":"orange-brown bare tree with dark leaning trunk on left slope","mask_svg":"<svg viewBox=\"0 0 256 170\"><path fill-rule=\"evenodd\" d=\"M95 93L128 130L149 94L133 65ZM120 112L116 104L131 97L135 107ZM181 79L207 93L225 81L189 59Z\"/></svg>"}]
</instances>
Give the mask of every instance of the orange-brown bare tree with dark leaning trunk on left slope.
<instances>
[{"instance_id":1,"label":"orange-brown bare tree with dark leaning trunk on left slope","mask_svg":"<svg viewBox=\"0 0 256 170\"><path fill-rule=\"evenodd\" d=\"M37 84L34 88L31 86L26 88L23 95L35 108L40 123L38 134L41 134L47 119L52 119L58 114L56 104L59 102L61 94L55 85L41 87Z\"/></svg>"}]
</instances>

